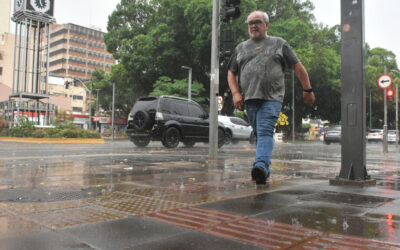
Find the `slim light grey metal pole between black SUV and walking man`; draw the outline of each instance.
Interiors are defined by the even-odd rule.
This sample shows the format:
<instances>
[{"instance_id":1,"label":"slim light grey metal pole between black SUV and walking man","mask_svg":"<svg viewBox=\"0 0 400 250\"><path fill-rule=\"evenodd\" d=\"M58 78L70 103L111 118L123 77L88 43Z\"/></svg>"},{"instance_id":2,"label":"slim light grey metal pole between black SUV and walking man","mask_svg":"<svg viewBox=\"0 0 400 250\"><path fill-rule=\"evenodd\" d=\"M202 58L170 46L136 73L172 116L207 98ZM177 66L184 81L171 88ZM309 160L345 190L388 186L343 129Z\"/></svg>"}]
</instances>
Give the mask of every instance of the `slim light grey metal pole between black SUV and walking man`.
<instances>
[{"instance_id":1,"label":"slim light grey metal pole between black SUV and walking man","mask_svg":"<svg viewBox=\"0 0 400 250\"><path fill-rule=\"evenodd\" d=\"M217 96L219 90L219 0L213 1L212 39L211 39L211 74L210 74L210 129L209 151L210 160L218 157L218 116Z\"/></svg>"}]
</instances>

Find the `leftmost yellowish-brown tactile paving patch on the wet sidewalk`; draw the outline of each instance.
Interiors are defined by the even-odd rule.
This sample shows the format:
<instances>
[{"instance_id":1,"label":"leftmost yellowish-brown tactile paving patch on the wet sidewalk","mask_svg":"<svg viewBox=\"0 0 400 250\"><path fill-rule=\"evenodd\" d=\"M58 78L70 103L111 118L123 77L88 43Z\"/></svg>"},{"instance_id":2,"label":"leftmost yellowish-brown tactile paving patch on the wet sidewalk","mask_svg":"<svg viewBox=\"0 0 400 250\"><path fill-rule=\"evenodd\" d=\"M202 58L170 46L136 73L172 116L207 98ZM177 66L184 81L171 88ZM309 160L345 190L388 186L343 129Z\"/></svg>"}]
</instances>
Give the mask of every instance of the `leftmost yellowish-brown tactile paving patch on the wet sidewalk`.
<instances>
[{"instance_id":1,"label":"leftmost yellowish-brown tactile paving patch on the wet sidewalk","mask_svg":"<svg viewBox=\"0 0 400 250\"><path fill-rule=\"evenodd\" d=\"M50 229L59 229L76 225L116 220L127 217L124 214L94 206L68 208L25 215L36 223Z\"/></svg>"}]
</instances>

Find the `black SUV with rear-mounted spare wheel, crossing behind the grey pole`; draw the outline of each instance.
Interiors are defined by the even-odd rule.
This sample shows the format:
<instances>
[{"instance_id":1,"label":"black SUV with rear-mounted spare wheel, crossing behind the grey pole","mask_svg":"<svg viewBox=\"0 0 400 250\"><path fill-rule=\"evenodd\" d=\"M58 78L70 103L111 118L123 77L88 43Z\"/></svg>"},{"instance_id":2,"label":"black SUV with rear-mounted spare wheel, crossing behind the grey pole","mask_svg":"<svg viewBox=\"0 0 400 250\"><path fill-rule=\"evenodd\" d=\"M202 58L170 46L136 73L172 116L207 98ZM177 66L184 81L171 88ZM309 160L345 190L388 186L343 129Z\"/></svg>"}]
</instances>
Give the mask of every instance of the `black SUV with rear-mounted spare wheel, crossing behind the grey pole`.
<instances>
[{"instance_id":1,"label":"black SUV with rear-mounted spare wheel, crossing behind the grey pole","mask_svg":"<svg viewBox=\"0 0 400 250\"><path fill-rule=\"evenodd\" d=\"M159 96L142 97L129 114L126 134L138 147L146 147L151 140L161 141L167 148L175 148L182 141L187 147L196 142L208 142L208 114L194 101ZM218 147L225 142L225 127L218 125Z\"/></svg>"}]
</instances>

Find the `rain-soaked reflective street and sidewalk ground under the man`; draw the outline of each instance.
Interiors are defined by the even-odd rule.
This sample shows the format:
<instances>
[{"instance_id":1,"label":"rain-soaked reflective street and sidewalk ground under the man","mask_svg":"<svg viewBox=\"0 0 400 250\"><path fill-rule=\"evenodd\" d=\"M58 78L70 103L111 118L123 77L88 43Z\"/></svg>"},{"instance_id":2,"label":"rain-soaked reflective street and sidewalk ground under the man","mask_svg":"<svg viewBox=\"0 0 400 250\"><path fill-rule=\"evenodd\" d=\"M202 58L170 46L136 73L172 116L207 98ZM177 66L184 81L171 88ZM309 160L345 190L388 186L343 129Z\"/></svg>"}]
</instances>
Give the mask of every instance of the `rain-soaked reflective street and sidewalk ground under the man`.
<instances>
[{"instance_id":1,"label":"rain-soaked reflective street and sidewalk ground under the man","mask_svg":"<svg viewBox=\"0 0 400 250\"><path fill-rule=\"evenodd\" d=\"M400 156L367 148L374 187L329 185L339 145L146 149L0 142L0 249L400 249Z\"/></svg>"}]
</instances>

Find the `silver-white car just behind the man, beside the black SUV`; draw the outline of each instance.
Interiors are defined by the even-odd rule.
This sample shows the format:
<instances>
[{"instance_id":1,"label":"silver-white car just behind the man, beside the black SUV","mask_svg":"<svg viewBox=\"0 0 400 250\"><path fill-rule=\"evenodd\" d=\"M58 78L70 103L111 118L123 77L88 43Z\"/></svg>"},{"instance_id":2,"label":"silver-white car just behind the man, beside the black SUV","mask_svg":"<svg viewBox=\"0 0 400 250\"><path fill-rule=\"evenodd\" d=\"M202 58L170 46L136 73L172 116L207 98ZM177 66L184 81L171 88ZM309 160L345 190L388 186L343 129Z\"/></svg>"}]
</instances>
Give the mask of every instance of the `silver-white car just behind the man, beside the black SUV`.
<instances>
[{"instance_id":1,"label":"silver-white car just behind the man, beside the black SUV","mask_svg":"<svg viewBox=\"0 0 400 250\"><path fill-rule=\"evenodd\" d=\"M225 143L238 143L248 141L253 128L242 118L234 116L218 116L218 122L225 126Z\"/></svg>"}]
</instances>

